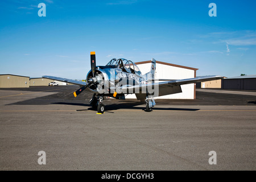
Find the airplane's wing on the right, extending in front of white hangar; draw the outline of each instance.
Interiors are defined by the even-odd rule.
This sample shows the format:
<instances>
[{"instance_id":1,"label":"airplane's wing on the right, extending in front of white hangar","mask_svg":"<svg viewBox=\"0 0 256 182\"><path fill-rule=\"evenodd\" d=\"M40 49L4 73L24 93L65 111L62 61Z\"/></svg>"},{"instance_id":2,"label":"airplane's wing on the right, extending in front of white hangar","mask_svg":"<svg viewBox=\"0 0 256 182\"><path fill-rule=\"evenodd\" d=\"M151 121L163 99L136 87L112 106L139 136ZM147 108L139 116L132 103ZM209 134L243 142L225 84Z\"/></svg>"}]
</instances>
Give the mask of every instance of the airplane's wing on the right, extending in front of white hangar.
<instances>
[{"instance_id":1,"label":"airplane's wing on the right, extending in front of white hangar","mask_svg":"<svg viewBox=\"0 0 256 182\"><path fill-rule=\"evenodd\" d=\"M222 76L200 76L195 78L187 78L183 80L156 82L154 84L141 84L141 85L134 85L134 86L125 85L125 86L121 86L120 90L123 93L129 93L127 92L127 90L137 90L139 92L137 94L144 94L144 96L146 96L145 91L148 90L148 88L158 88L154 90L154 91L157 90L156 91L157 93L154 94L154 97L166 96L169 94L182 92L180 85L192 84L192 83L202 82L202 81L219 80L222 78L223 78Z\"/></svg>"}]
</instances>

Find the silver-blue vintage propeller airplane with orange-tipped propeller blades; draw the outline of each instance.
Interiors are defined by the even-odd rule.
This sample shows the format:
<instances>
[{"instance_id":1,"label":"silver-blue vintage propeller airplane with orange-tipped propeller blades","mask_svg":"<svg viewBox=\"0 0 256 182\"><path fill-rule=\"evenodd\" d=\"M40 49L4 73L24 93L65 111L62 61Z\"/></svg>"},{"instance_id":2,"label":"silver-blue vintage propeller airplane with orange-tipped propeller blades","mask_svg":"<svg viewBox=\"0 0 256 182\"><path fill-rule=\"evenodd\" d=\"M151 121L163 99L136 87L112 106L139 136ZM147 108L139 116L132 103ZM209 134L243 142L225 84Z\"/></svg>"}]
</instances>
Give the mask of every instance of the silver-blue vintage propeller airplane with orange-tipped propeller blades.
<instances>
[{"instance_id":1,"label":"silver-blue vintage propeller airplane with orange-tipped propeller blades","mask_svg":"<svg viewBox=\"0 0 256 182\"><path fill-rule=\"evenodd\" d=\"M134 94L137 100L146 102L145 111L152 111L155 106L154 97L181 93L180 85L201 81L222 79L222 76L201 76L182 80L155 79L156 60L151 59L150 72L142 75L133 61L123 58L109 61L105 66L96 66L96 53L90 52L91 69L86 75L86 82L70 80L54 76L42 76L52 80L79 85L81 88L73 92L77 97L85 89L93 92L89 103L99 114L105 112L105 97L125 100L125 94ZM159 82L162 81L162 82Z\"/></svg>"}]
</instances>

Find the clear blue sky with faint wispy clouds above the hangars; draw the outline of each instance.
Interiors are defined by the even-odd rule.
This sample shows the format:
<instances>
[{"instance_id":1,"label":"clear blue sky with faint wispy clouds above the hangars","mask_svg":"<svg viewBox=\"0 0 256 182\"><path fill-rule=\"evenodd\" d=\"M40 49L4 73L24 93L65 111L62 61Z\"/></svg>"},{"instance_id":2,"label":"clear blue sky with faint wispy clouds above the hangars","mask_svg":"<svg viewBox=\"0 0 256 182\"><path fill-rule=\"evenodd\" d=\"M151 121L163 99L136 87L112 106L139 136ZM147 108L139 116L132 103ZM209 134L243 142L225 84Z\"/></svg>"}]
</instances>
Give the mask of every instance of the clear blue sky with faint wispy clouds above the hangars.
<instances>
[{"instance_id":1,"label":"clear blue sky with faint wispy clouds above the hangars","mask_svg":"<svg viewBox=\"0 0 256 182\"><path fill-rule=\"evenodd\" d=\"M254 0L0 1L0 74L81 79L96 51L97 65L154 57L197 76L256 75L255 8Z\"/></svg>"}]
</instances>

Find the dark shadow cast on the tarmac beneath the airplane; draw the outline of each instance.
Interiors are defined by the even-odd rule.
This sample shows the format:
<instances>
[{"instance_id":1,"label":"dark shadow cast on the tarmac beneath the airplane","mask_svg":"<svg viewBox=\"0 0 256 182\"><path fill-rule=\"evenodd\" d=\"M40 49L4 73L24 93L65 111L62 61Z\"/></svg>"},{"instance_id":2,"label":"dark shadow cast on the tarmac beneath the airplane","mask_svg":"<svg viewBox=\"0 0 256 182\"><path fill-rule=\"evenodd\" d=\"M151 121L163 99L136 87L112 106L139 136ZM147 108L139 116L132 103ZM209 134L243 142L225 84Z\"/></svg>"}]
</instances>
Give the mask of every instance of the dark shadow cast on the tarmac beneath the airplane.
<instances>
[{"instance_id":1,"label":"dark shadow cast on the tarmac beneath the airplane","mask_svg":"<svg viewBox=\"0 0 256 182\"><path fill-rule=\"evenodd\" d=\"M52 104L60 104L60 105L74 105L74 106L87 106L89 107L88 109L81 109L77 111L86 111L86 110L96 110L94 109L91 105L89 104L81 104L81 103L72 103L72 102L55 102ZM145 110L146 106L143 107L138 107L138 105L142 105L142 102L134 102L133 104L131 103L122 103L122 104L109 104L105 105L105 111L109 113L112 113L110 111L114 110L119 110L119 109L141 109ZM189 108L174 108L174 107L153 107L152 110L170 110L170 111L197 111L200 109L189 109Z\"/></svg>"}]
</instances>

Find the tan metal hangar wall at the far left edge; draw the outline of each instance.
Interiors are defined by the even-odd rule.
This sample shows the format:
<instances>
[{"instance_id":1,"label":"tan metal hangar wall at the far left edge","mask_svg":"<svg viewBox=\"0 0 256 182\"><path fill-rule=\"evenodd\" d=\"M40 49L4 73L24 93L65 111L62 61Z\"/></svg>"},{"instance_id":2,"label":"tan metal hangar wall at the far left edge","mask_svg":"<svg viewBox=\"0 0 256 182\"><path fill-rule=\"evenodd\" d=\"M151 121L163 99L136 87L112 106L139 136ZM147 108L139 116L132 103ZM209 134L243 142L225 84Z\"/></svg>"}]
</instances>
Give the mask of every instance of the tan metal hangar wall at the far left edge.
<instances>
[{"instance_id":1,"label":"tan metal hangar wall at the far left edge","mask_svg":"<svg viewBox=\"0 0 256 182\"><path fill-rule=\"evenodd\" d=\"M30 78L14 75L0 75L0 88L22 88L30 86Z\"/></svg>"}]
</instances>

